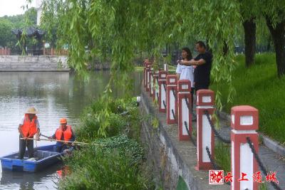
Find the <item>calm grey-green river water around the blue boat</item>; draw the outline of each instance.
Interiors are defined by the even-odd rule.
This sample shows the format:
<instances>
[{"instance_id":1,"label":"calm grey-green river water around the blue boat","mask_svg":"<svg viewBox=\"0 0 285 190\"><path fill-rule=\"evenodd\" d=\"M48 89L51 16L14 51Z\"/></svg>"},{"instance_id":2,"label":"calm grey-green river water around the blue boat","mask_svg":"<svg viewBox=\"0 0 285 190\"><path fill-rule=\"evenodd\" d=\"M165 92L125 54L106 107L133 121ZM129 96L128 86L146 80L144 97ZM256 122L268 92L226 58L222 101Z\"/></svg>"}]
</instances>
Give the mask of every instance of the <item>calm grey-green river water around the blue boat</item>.
<instances>
[{"instance_id":1,"label":"calm grey-green river water around the blue boat","mask_svg":"<svg viewBox=\"0 0 285 190\"><path fill-rule=\"evenodd\" d=\"M41 133L50 136L56 131L61 117L68 124L78 125L86 105L103 92L109 80L108 71L95 72L88 83L71 73L0 73L0 157L19 151L19 121L28 107L38 110ZM133 96L140 95L142 75L133 74ZM115 89L116 97L124 90ZM34 147L51 142L37 142ZM58 166L29 174L2 171L0 189L56 189Z\"/></svg>"}]
</instances>

